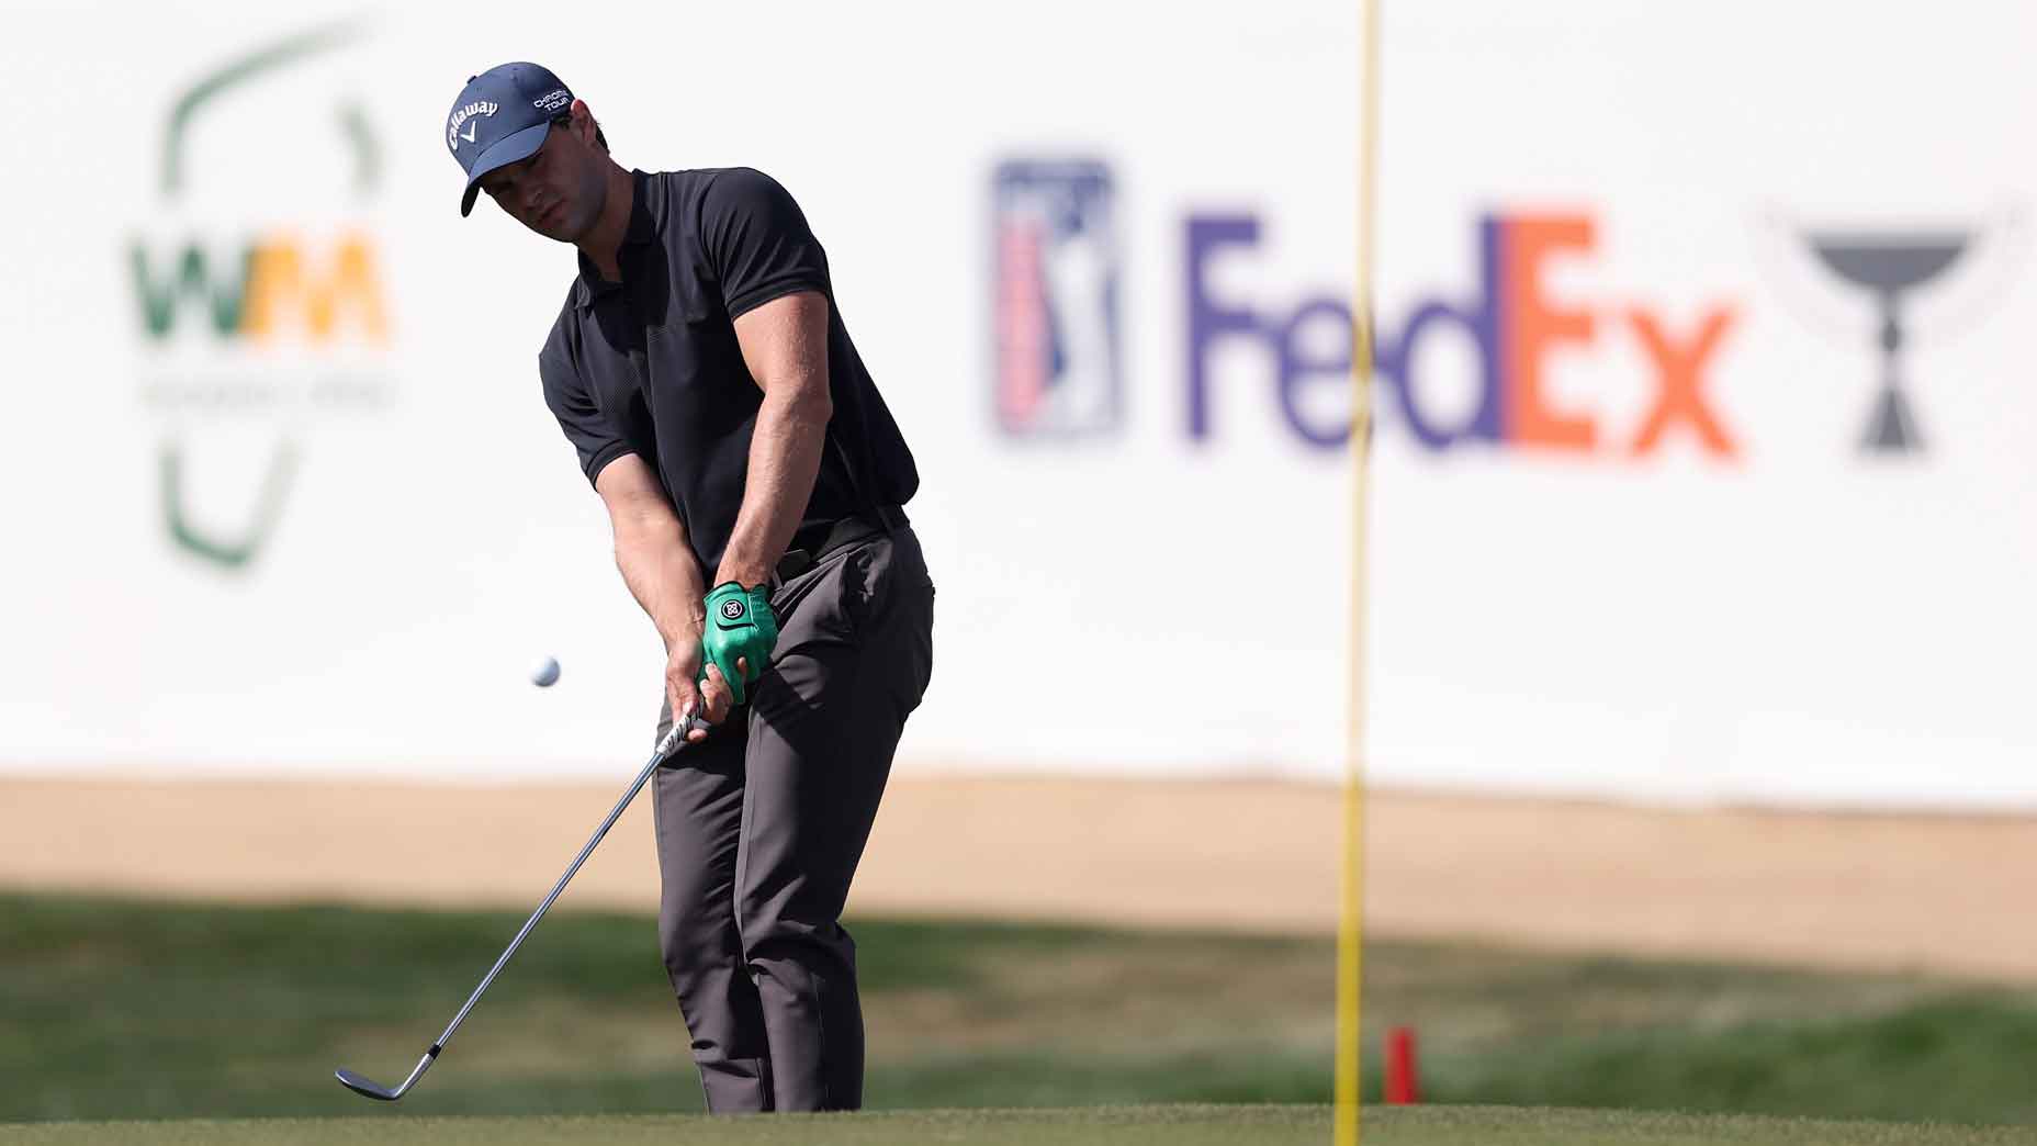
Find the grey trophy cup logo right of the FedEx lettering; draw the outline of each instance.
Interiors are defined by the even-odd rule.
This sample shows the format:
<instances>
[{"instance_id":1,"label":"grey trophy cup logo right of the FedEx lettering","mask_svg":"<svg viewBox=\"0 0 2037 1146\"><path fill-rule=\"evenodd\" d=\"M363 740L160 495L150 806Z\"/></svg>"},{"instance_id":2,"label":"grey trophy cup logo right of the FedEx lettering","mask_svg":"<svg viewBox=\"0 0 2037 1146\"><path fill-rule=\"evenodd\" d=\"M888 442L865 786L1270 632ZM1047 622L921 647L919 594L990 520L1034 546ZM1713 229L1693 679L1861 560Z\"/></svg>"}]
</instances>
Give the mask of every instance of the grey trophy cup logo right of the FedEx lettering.
<instances>
[{"instance_id":1,"label":"grey trophy cup logo right of the FedEx lettering","mask_svg":"<svg viewBox=\"0 0 2037 1146\"><path fill-rule=\"evenodd\" d=\"M2019 212L1929 226L1784 222L1782 232L1788 245L1809 255L1805 263L1817 267L1825 283L1872 308L1866 324L1821 322L1833 336L1856 347L1866 343L1878 359L1860 451L1878 457L1923 453L1929 434L1917 416L1917 347L1953 336L1958 318L1972 318L1992 302L2008 255L2021 241ZM1801 310L1827 308L1801 300ZM1921 312L1927 314L1919 318Z\"/></svg>"}]
</instances>

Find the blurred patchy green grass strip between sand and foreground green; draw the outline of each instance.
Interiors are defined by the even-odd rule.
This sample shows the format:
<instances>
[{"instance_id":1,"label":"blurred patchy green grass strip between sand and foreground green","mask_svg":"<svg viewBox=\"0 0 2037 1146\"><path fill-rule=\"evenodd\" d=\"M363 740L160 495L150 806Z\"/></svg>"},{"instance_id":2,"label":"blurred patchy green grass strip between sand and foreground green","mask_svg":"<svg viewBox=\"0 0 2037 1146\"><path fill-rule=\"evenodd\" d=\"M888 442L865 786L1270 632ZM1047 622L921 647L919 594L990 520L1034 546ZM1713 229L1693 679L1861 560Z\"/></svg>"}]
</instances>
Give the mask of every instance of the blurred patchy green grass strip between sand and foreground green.
<instances>
[{"instance_id":1,"label":"blurred patchy green grass strip between sand and foreground green","mask_svg":"<svg viewBox=\"0 0 2037 1146\"><path fill-rule=\"evenodd\" d=\"M652 922L611 914L548 918L401 1107L332 1081L399 1079L519 922L0 895L0 1119L699 1109ZM1328 940L851 930L874 1109L1328 1101ZM1442 1103L2037 1124L2027 991L1375 942L1367 1020Z\"/></svg>"}]
</instances>

